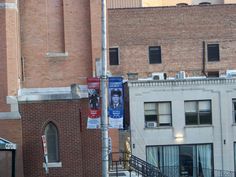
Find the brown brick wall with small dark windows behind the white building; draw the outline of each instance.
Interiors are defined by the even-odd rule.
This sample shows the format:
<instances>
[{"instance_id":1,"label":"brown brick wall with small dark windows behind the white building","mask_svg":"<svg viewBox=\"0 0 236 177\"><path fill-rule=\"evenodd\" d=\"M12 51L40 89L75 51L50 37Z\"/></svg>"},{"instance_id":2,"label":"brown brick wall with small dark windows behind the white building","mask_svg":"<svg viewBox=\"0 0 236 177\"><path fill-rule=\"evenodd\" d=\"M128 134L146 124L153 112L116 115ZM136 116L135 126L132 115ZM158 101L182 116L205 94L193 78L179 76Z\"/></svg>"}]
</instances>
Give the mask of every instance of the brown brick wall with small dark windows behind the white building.
<instances>
[{"instance_id":1,"label":"brown brick wall with small dark windows behind the white building","mask_svg":"<svg viewBox=\"0 0 236 177\"><path fill-rule=\"evenodd\" d=\"M158 7L109 10L109 44L120 49L114 75L152 72L200 75L202 42L219 43L220 62L206 71L236 69L236 5ZM162 64L149 64L148 47L161 46Z\"/></svg>"}]
</instances>

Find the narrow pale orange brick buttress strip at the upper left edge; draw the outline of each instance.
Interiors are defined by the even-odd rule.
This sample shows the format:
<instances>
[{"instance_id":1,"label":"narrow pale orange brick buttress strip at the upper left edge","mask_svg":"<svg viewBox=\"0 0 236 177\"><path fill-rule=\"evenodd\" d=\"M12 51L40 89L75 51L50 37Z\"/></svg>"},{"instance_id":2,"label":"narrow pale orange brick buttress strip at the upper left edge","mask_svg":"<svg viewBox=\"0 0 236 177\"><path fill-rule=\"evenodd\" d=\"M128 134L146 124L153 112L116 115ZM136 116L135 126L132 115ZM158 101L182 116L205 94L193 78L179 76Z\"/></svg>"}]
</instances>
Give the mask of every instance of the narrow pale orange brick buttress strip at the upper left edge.
<instances>
[{"instance_id":1,"label":"narrow pale orange brick buttress strip at the upper left edge","mask_svg":"<svg viewBox=\"0 0 236 177\"><path fill-rule=\"evenodd\" d=\"M1 8L0 23L0 111L7 112L10 108L6 105L6 96L16 95L20 77L17 9Z\"/></svg>"}]
</instances>

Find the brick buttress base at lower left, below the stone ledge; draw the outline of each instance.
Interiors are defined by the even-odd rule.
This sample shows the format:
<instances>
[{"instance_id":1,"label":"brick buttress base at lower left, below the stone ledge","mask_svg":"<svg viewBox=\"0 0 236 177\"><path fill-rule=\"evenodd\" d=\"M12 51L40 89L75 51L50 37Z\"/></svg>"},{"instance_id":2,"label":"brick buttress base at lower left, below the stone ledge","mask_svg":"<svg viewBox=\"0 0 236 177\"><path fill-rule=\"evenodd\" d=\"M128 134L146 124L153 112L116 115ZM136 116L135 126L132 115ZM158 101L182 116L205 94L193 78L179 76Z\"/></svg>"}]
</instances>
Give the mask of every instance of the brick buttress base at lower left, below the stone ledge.
<instances>
[{"instance_id":1,"label":"brick buttress base at lower left, below the stone ledge","mask_svg":"<svg viewBox=\"0 0 236 177\"><path fill-rule=\"evenodd\" d=\"M0 120L0 137L17 144L16 177L23 177L21 120Z\"/></svg>"}]
</instances>

